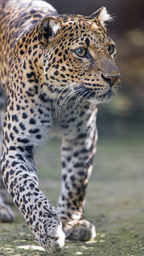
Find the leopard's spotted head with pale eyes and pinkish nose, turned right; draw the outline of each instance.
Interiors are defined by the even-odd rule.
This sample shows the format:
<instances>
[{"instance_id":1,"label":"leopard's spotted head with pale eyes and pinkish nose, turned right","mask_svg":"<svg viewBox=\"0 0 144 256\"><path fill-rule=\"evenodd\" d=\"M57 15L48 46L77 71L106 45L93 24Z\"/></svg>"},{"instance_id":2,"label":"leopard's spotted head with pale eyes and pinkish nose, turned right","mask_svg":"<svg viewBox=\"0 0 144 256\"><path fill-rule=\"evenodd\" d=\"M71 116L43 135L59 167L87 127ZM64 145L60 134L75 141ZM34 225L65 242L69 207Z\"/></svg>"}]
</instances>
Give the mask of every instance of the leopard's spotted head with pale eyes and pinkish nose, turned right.
<instances>
[{"instance_id":1,"label":"leopard's spotted head with pale eyes and pinkish nose, turned right","mask_svg":"<svg viewBox=\"0 0 144 256\"><path fill-rule=\"evenodd\" d=\"M44 76L52 88L96 103L116 94L120 73L115 43L99 14L45 18L39 40L44 52Z\"/></svg>"}]
</instances>

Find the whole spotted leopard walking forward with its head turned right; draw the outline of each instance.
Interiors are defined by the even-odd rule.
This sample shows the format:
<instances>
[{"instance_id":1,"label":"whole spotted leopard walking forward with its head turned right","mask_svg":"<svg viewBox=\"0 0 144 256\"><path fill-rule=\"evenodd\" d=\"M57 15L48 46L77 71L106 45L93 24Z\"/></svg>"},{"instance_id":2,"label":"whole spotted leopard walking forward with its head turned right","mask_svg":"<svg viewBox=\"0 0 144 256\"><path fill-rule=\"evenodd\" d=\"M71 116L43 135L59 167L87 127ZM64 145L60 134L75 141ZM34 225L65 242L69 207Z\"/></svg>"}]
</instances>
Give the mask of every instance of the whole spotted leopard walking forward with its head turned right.
<instances>
[{"instance_id":1,"label":"whole spotted leopard walking forward with its head turned right","mask_svg":"<svg viewBox=\"0 0 144 256\"><path fill-rule=\"evenodd\" d=\"M116 44L105 7L90 16L59 14L42 0L0 1L0 83L6 94L1 173L36 241L57 252L65 239L96 236L84 219L100 103L116 96ZM61 138L57 209L38 186L37 148ZM0 199L1 221L13 220Z\"/></svg>"}]
</instances>

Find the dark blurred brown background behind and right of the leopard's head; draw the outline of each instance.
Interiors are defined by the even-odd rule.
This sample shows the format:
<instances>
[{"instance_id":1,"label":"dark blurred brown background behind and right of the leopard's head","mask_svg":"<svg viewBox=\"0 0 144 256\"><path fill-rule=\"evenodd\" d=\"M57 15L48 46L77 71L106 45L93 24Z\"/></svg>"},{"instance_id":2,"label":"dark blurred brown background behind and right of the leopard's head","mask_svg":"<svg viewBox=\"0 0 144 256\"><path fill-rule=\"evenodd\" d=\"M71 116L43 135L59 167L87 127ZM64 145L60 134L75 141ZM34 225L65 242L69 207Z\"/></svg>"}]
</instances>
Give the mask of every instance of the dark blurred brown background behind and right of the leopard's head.
<instances>
[{"instance_id":1,"label":"dark blurred brown background behind and right of the leopard's head","mask_svg":"<svg viewBox=\"0 0 144 256\"><path fill-rule=\"evenodd\" d=\"M144 130L144 1L143 0L49 0L62 13L89 16L105 6L114 17L108 35L117 45L117 66L121 73L118 97L99 106L99 134L133 134ZM105 129L107 126L107 129Z\"/></svg>"}]
</instances>

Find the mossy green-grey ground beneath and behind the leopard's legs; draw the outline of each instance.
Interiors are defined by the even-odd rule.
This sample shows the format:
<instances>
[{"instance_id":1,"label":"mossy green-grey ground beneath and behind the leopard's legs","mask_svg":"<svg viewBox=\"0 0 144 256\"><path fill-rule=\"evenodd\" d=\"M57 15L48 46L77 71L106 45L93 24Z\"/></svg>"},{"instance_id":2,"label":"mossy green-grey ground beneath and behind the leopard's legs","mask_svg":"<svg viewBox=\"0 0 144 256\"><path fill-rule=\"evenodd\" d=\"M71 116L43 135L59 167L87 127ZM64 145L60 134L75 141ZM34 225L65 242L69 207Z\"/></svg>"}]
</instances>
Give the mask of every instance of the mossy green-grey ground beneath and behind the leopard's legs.
<instances>
[{"instance_id":1,"label":"mossy green-grey ground beneath and behind the leopard's legs","mask_svg":"<svg viewBox=\"0 0 144 256\"><path fill-rule=\"evenodd\" d=\"M99 138L87 190L85 218L96 226L88 242L66 241L58 256L144 255L143 140ZM49 141L36 155L40 188L56 206L60 193L60 140ZM46 256L13 205L15 220L0 224L0 255Z\"/></svg>"}]
</instances>

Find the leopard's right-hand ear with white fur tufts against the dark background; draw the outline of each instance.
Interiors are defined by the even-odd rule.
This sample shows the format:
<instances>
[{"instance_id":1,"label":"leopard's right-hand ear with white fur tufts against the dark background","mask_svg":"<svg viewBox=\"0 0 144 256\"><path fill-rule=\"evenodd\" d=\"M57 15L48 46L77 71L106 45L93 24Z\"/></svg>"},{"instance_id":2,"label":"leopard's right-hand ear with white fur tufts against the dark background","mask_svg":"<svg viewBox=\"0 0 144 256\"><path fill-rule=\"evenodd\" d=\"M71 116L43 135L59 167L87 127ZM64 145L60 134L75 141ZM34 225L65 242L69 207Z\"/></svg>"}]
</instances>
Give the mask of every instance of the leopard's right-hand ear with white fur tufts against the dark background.
<instances>
[{"instance_id":1,"label":"leopard's right-hand ear with white fur tufts against the dark background","mask_svg":"<svg viewBox=\"0 0 144 256\"><path fill-rule=\"evenodd\" d=\"M113 18L110 16L110 14L107 12L106 7L101 7L96 12L92 13L89 17L92 19L98 19L102 25L105 25L105 21L112 21Z\"/></svg>"}]
</instances>

